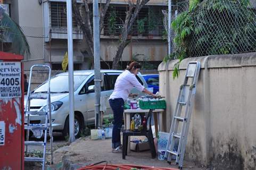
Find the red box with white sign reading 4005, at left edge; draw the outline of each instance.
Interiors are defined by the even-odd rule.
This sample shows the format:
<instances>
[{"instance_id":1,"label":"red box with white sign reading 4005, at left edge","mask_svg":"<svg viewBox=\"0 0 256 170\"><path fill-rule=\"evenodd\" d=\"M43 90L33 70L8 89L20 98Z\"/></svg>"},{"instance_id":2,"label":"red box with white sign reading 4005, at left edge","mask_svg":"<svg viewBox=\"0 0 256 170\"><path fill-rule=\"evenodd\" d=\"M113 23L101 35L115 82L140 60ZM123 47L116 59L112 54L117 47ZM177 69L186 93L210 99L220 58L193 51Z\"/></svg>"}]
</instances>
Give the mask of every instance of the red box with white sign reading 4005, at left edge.
<instances>
[{"instance_id":1,"label":"red box with white sign reading 4005, at left edge","mask_svg":"<svg viewBox=\"0 0 256 170\"><path fill-rule=\"evenodd\" d=\"M22 59L0 52L0 169L24 169Z\"/></svg>"}]
</instances>

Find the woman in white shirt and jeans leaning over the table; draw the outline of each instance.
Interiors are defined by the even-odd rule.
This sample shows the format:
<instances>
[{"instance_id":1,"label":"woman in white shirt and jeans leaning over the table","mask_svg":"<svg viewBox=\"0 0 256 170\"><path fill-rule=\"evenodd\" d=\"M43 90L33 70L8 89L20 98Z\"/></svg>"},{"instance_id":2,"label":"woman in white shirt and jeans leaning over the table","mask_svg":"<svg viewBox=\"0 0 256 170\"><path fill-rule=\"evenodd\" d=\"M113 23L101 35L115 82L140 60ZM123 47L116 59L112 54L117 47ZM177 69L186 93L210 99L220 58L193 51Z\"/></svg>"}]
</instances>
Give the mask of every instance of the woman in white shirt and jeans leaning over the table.
<instances>
[{"instance_id":1,"label":"woman in white shirt and jeans leaning over the table","mask_svg":"<svg viewBox=\"0 0 256 170\"><path fill-rule=\"evenodd\" d=\"M145 94L156 97L152 92L145 89L136 78L141 65L138 62L132 62L126 71L121 73L114 84L114 91L109 98L110 107L114 113L114 128L112 132L112 152L119 152L121 149L120 130L122 126L123 105L128 97L135 97L137 94L129 94L130 90L135 87Z\"/></svg>"}]
</instances>

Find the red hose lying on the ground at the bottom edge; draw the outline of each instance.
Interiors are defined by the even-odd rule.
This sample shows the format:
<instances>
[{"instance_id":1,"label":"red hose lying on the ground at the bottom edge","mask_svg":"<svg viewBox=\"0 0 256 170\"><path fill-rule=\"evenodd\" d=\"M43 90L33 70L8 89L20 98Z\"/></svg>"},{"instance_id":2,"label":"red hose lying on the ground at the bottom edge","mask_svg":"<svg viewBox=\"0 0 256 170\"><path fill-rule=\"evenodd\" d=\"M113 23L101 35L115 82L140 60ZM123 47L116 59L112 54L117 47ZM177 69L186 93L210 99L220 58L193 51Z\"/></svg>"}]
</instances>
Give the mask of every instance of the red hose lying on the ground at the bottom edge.
<instances>
[{"instance_id":1,"label":"red hose lying on the ground at the bottom edge","mask_svg":"<svg viewBox=\"0 0 256 170\"><path fill-rule=\"evenodd\" d=\"M177 170L176 168L167 168L167 167L151 167L151 166L142 166L142 165L133 165L133 164L113 164L113 165L108 165L107 162L105 162L105 165L98 165L101 164L103 162L100 163L96 163L96 164L91 164L91 165L87 165L85 167L81 167L78 170L86 170L86 169L90 169L90 170L116 170L117 168L119 168L120 170L130 170L132 168L137 168L137 169L147 169L147 170Z\"/></svg>"}]
</instances>

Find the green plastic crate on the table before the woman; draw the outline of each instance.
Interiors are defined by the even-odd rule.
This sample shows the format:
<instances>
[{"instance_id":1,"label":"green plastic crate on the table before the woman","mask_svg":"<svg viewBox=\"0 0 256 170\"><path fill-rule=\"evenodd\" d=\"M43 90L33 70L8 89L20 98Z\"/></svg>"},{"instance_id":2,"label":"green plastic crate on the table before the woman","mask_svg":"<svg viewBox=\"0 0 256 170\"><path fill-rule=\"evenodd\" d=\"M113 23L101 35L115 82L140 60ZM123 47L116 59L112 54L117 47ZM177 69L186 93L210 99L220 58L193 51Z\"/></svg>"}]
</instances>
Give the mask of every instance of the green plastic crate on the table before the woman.
<instances>
[{"instance_id":1,"label":"green plastic crate on the table before the woman","mask_svg":"<svg viewBox=\"0 0 256 170\"><path fill-rule=\"evenodd\" d=\"M141 109L165 109L166 108L166 100L156 100L156 101L139 100L139 108L141 108Z\"/></svg>"}]
</instances>

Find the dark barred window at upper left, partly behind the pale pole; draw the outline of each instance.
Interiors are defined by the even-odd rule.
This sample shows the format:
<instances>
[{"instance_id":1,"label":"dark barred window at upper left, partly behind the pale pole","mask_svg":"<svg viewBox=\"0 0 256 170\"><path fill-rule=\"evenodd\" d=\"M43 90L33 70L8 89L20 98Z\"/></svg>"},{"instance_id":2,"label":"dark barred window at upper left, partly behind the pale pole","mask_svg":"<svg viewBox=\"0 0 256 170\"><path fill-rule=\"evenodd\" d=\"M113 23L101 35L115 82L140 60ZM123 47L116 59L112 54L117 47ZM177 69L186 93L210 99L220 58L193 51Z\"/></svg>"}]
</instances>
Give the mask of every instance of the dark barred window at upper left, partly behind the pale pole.
<instances>
[{"instance_id":1,"label":"dark barred window at upper left, partly behind the pale pole","mask_svg":"<svg viewBox=\"0 0 256 170\"><path fill-rule=\"evenodd\" d=\"M75 18L73 27L77 27ZM67 28L67 6L64 2L51 2L51 25L56 28Z\"/></svg>"}]
</instances>

